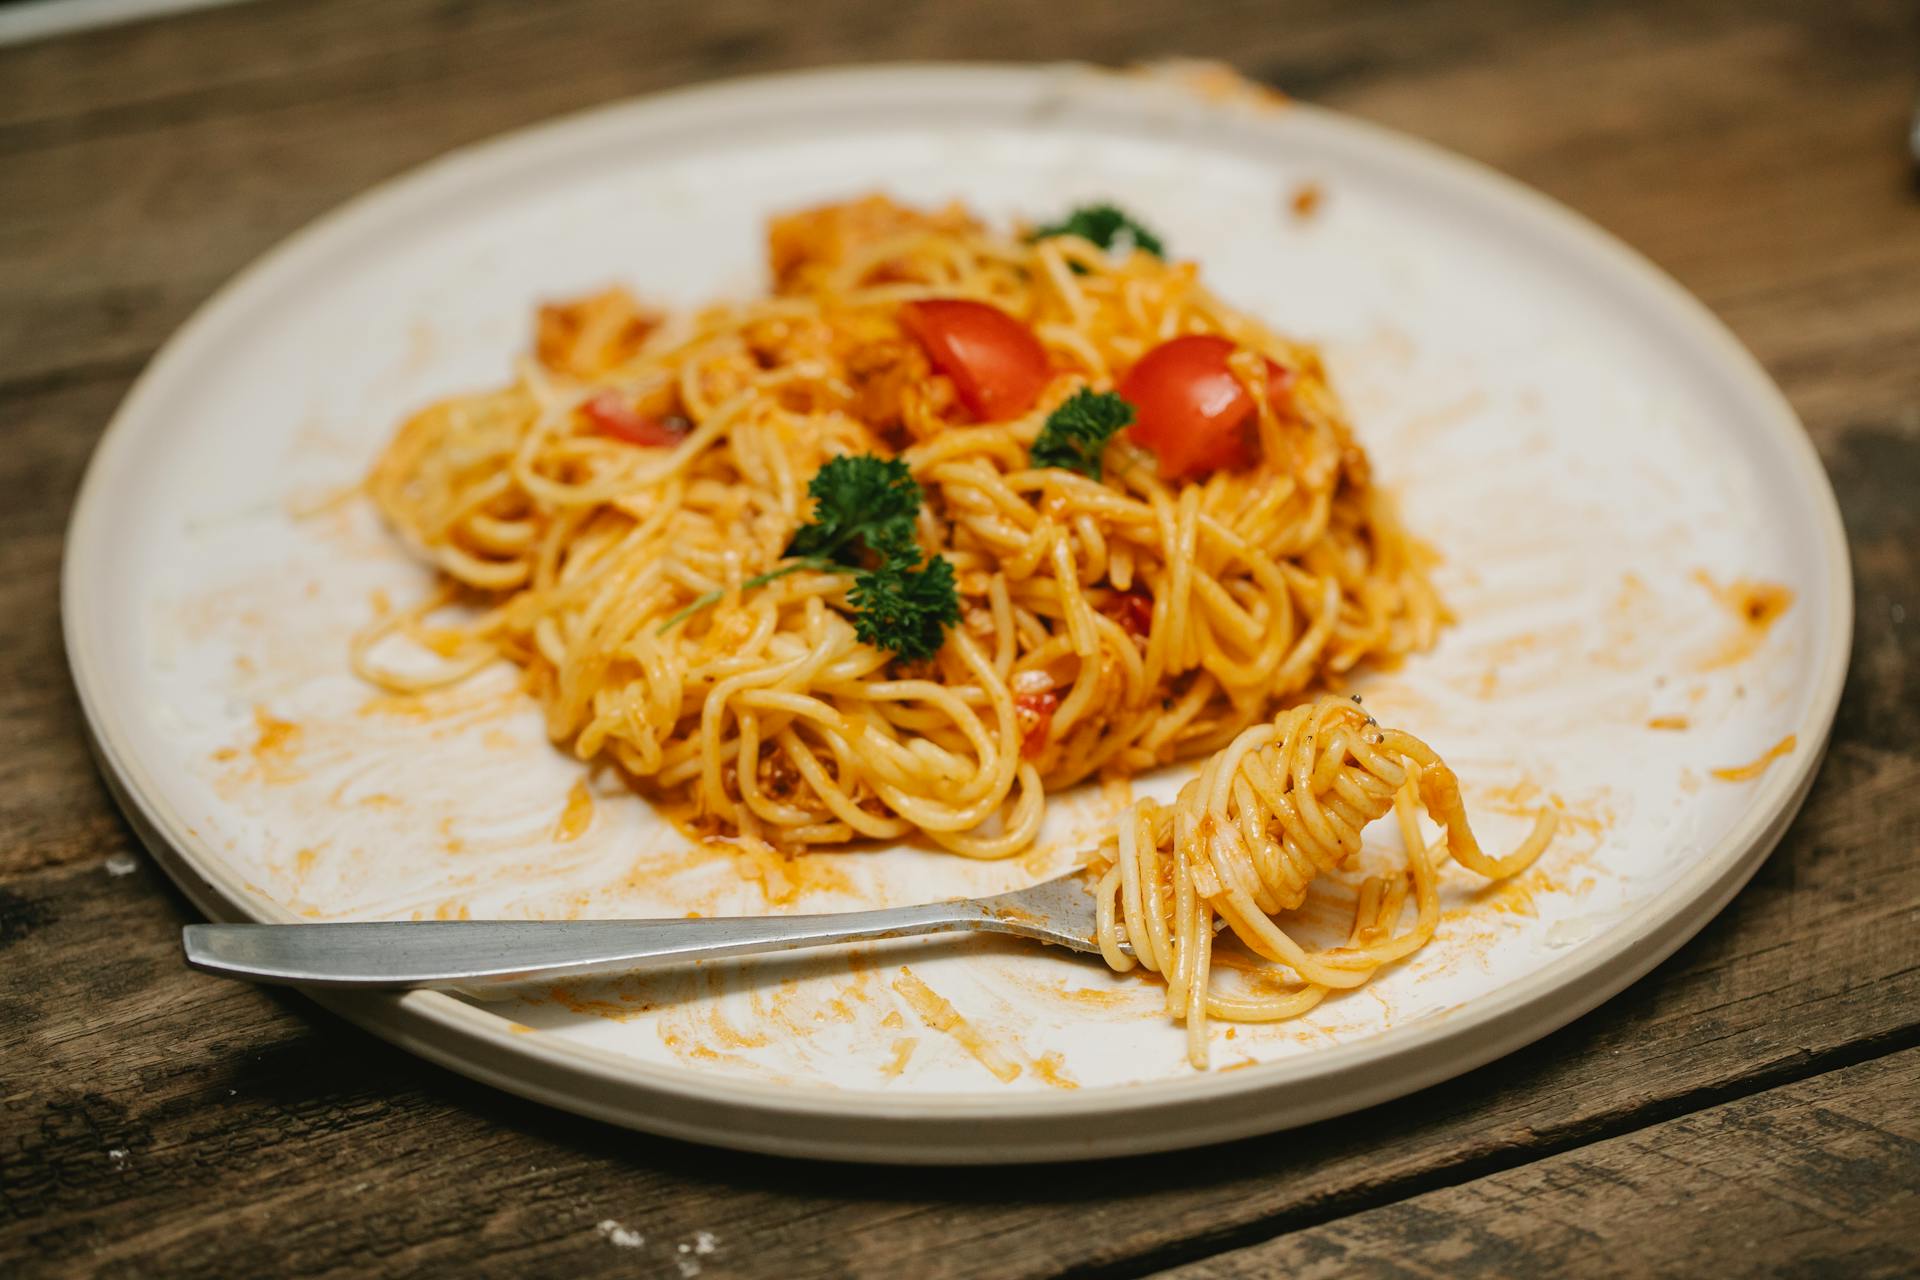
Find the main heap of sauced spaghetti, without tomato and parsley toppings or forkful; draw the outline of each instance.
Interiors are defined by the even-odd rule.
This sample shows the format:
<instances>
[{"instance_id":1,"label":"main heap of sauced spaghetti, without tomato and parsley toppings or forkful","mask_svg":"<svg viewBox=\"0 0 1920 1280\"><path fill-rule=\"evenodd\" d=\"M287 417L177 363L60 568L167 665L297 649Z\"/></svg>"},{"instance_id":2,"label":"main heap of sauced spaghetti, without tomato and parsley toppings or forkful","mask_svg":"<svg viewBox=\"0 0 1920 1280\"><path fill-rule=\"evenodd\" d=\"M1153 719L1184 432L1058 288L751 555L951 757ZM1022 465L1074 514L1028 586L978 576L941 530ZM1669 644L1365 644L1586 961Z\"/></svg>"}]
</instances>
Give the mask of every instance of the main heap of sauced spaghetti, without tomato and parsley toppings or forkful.
<instances>
[{"instance_id":1,"label":"main heap of sauced spaghetti, without tomato and parsley toppings or forkful","mask_svg":"<svg viewBox=\"0 0 1920 1280\"><path fill-rule=\"evenodd\" d=\"M505 656L555 741L708 835L920 831L1000 858L1031 842L1046 791L1217 750L1309 683L1432 643L1428 553L1371 484L1319 357L1190 263L881 198L776 221L770 257L776 294L743 305L549 307L513 386L401 426L371 491L445 585L359 637L363 676L419 691ZM1023 324L1046 359L1037 401L977 420L902 326L922 299ZM1104 478L1031 464L1050 411L1183 334L1238 347L1252 464L1175 480L1125 438ZM952 566L960 624L924 662L856 637L845 574L747 585L808 518L808 478L864 453L904 461L920 549ZM455 603L478 614L434 626ZM392 660L396 637L434 670Z\"/></svg>"}]
</instances>

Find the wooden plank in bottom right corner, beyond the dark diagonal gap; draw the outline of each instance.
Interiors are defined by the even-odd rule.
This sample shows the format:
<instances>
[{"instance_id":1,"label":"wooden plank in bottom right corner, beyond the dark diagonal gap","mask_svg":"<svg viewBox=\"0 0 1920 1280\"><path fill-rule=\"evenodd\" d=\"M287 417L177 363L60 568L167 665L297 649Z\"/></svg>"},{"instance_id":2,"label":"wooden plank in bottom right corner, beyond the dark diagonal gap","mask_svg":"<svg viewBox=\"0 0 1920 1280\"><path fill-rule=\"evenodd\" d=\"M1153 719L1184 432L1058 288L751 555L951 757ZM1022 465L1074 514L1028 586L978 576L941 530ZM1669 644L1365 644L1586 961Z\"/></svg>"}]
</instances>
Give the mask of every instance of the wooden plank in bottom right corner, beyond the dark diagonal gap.
<instances>
[{"instance_id":1,"label":"wooden plank in bottom right corner, beyond the dark diagonal gap","mask_svg":"<svg viewBox=\"0 0 1920 1280\"><path fill-rule=\"evenodd\" d=\"M1912 1276L1908 1050L1281 1236L1165 1280ZM1764 1230L1757 1230L1764 1224Z\"/></svg>"}]
</instances>

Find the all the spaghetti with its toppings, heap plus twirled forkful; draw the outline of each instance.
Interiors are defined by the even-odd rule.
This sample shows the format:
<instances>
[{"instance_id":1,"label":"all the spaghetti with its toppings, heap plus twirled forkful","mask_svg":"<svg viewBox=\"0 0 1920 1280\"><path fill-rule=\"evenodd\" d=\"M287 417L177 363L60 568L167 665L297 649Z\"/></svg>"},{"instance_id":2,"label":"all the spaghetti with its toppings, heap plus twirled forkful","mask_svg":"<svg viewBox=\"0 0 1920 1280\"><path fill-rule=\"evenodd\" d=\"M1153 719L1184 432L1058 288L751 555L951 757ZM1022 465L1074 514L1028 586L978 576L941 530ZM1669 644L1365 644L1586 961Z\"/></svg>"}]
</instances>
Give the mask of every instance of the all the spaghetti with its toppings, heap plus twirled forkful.
<instances>
[{"instance_id":1,"label":"all the spaghetti with its toppings, heap plus twirled forkful","mask_svg":"<svg viewBox=\"0 0 1920 1280\"><path fill-rule=\"evenodd\" d=\"M357 639L363 676L507 658L576 756L781 850L1000 858L1048 791L1217 752L1098 860L1106 960L1165 979L1196 1063L1208 1017L1290 1017L1432 935L1415 800L1475 871L1540 852L1551 814L1486 858L1446 766L1357 706L1273 718L1446 620L1313 347L1110 205L1016 238L876 196L768 249L755 301L545 307L511 386L399 428L369 489L442 587ZM1396 806L1405 871L1346 946L1294 942L1275 915ZM1215 990L1221 927L1296 984Z\"/></svg>"}]
</instances>

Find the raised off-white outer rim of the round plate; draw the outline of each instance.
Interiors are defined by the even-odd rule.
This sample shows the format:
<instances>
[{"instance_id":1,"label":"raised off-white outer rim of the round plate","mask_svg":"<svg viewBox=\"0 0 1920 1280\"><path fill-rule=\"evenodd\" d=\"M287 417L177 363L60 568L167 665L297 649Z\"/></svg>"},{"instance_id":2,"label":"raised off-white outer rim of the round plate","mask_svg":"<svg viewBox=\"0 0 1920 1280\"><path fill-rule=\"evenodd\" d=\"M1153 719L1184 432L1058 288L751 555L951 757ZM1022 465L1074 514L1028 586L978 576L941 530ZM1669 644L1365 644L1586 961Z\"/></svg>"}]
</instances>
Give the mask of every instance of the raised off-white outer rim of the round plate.
<instances>
[{"instance_id":1,"label":"raised off-white outer rim of the round plate","mask_svg":"<svg viewBox=\"0 0 1920 1280\"><path fill-rule=\"evenodd\" d=\"M515 129L447 152L401 171L309 221L242 267L175 330L152 357L94 445L67 522L61 562L61 628L67 662L79 693L90 745L109 791L142 842L196 908L213 919L294 919L276 904L250 894L215 850L167 804L144 775L123 731L125 714L102 687L92 635L100 593L88 581L109 545L109 497L148 405L190 370L219 324L271 299L275 286L309 263L326 261L380 223L405 215L415 201L445 190L480 184L511 173L524 157L555 140L589 142L601 130L620 132L678 115L755 109L780 100L791 111L799 98L847 94L918 100L1000 94L1039 107L1052 96L1100 100L1160 94L1156 107L1190 121L1235 113L1258 127L1269 106L1206 98L1165 79L1091 67L1087 63L954 63L910 61L860 67L820 67L749 75L620 100ZM1117 104L1117 98L1116 98ZM927 1092L795 1088L705 1075L689 1067L645 1063L609 1050L566 1042L545 1032L515 1032L513 1023L484 1006L444 992L315 996L324 1007L394 1040L409 1052L484 1082L595 1119L674 1138L783 1155L826 1155L879 1163L1008 1163L1079 1159L1202 1146L1256 1132L1327 1119L1440 1082L1542 1038L1599 1006L1692 938L1716 915L1786 833L1812 785L1826 750L1847 674L1853 633L1853 574L1839 505L1818 453L1797 413L1755 357L1705 303L1636 249L1590 219L1530 186L1465 155L1325 107L1286 104L1342 146L1390 154L1455 186L1480 188L1509 205L1538 230L1590 263L1607 278L1630 286L1640 301L1686 328L1690 340L1715 357L1728 386L1766 413L1743 430L1770 434L1784 445L1793 480L1812 499L1820 526L1820 572L1832 585L1830 608L1812 620L1816 654L1811 660L1811 720L1797 729L1803 750L1774 768L1753 793L1747 814L1672 885L1615 923L1505 984L1457 1009L1413 1019L1350 1044L1235 1073L1169 1077L1135 1084L1089 1086L1073 1092ZM1822 649L1824 647L1824 649ZM1567 998L1572 994L1574 998ZM1559 1000L1555 1000L1559 998ZM1281 1096L1298 1092L1296 1098ZM1260 1107L1256 1103L1281 1103ZM676 1111L678 1107L678 1111ZM1135 1117L1137 1125L1089 1125L1106 1117ZM1144 1117L1156 1117L1146 1123Z\"/></svg>"}]
</instances>

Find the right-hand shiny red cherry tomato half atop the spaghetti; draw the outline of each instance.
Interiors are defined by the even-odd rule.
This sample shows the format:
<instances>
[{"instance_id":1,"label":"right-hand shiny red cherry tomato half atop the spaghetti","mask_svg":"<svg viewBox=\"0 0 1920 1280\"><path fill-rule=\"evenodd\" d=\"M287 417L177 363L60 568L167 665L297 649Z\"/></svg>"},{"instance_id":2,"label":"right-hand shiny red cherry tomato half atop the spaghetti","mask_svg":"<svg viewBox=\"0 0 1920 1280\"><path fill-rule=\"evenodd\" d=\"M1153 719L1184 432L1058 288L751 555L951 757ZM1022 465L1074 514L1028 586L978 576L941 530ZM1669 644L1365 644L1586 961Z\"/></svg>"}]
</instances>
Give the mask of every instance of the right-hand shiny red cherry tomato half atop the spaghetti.
<instances>
[{"instance_id":1,"label":"right-hand shiny red cherry tomato half atop the spaghetti","mask_svg":"<svg viewBox=\"0 0 1920 1280\"><path fill-rule=\"evenodd\" d=\"M1254 397L1233 376L1235 344L1217 334L1169 338L1142 355L1119 382L1135 409L1129 438L1152 449L1167 480L1204 476L1254 461ZM1284 393L1292 374L1267 361L1267 395Z\"/></svg>"}]
</instances>

